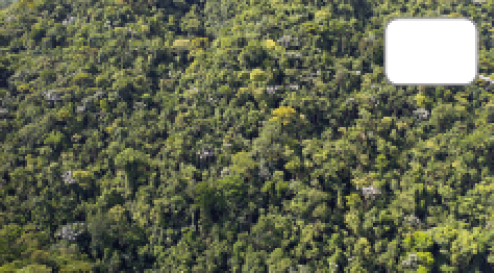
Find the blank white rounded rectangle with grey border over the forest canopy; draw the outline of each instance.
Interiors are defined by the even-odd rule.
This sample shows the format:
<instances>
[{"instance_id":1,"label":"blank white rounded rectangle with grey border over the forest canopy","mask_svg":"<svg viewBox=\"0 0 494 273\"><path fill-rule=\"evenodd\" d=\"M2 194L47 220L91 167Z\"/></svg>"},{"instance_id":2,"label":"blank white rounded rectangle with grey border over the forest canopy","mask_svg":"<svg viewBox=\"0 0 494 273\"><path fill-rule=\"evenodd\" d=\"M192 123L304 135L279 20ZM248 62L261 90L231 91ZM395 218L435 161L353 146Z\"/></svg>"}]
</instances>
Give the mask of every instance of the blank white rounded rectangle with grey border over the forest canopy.
<instances>
[{"instance_id":1,"label":"blank white rounded rectangle with grey border over the forest canopy","mask_svg":"<svg viewBox=\"0 0 494 273\"><path fill-rule=\"evenodd\" d=\"M384 34L384 72L394 85L468 85L478 73L475 23L395 18Z\"/></svg>"}]
</instances>

